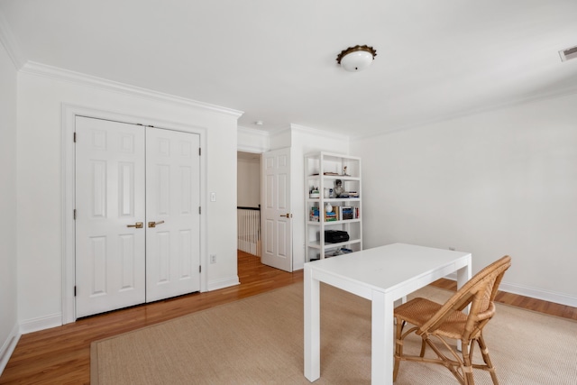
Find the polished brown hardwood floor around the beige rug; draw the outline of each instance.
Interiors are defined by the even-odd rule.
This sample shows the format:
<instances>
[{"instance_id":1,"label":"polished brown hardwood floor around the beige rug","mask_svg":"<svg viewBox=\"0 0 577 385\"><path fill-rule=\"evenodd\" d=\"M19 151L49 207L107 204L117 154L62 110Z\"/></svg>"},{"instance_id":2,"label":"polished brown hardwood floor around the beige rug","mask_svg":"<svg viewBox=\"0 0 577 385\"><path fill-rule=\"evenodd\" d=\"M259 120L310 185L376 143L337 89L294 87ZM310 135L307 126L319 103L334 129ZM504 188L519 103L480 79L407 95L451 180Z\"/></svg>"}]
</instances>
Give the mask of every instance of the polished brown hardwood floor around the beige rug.
<instances>
[{"instance_id":1,"label":"polished brown hardwood floor around the beige rug","mask_svg":"<svg viewBox=\"0 0 577 385\"><path fill-rule=\"evenodd\" d=\"M23 335L0 377L0 384L87 384L90 343L93 341L303 280L302 270L293 273L276 270L244 252L238 255L238 274L241 284L233 288L170 298ZM451 280L438 280L434 285L455 289ZM576 307L508 293L499 293L497 299L509 305L577 320Z\"/></svg>"}]
</instances>

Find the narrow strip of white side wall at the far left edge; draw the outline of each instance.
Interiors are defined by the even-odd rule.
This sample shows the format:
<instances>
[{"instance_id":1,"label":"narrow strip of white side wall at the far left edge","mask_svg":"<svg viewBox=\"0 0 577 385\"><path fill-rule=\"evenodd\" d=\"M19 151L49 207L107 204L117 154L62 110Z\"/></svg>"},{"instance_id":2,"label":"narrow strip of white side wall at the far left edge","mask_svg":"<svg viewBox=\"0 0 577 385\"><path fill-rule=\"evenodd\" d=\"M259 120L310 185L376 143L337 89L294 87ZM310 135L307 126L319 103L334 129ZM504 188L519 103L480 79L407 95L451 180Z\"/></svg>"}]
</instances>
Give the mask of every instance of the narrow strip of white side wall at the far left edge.
<instances>
[{"instance_id":1,"label":"narrow strip of white side wall at the far left edge","mask_svg":"<svg viewBox=\"0 0 577 385\"><path fill-rule=\"evenodd\" d=\"M0 41L0 374L18 334L16 78L13 61Z\"/></svg>"}]
</instances>

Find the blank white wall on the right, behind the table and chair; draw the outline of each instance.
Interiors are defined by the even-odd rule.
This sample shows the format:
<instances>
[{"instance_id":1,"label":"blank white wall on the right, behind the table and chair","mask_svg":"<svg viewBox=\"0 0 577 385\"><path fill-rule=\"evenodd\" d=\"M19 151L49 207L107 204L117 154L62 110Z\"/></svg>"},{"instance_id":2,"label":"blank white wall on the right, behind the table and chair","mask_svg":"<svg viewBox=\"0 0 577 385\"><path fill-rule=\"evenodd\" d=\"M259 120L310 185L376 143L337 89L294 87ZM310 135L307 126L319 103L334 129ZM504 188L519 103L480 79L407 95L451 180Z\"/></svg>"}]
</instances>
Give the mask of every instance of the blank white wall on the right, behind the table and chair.
<instances>
[{"instance_id":1,"label":"blank white wall on the right, behind the table and chair","mask_svg":"<svg viewBox=\"0 0 577 385\"><path fill-rule=\"evenodd\" d=\"M352 143L365 248L510 254L503 289L577 306L577 95Z\"/></svg>"}]
</instances>

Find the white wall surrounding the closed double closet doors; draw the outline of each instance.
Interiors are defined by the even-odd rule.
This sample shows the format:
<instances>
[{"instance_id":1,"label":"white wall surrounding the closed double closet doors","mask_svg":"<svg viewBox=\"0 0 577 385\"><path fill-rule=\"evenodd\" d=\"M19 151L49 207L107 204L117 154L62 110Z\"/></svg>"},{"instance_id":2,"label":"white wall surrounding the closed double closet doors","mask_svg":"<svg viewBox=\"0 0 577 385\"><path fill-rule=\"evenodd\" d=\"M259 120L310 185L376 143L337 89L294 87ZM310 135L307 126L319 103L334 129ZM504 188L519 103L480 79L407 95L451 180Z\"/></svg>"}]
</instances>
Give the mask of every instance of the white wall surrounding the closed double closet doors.
<instances>
[{"instance_id":1,"label":"white wall surrounding the closed double closet doors","mask_svg":"<svg viewBox=\"0 0 577 385\"><path fill-rule=\"evenodd\" d=\"M206 129L206 264L209 289L238 283L236 271L237 115L172 101L154 93L103 81L84 82L78 74L40 66L24 68L18 81L17 173L18 305L21 324L58 319L62 287L61 115L62 104L82 105L154 121ZM63 71L64 72L64 71ZM78 80L78 81L77 81ZM125 90L127 90L125 92ZM206 255L201 256L206 258Z\"/></svg>"}]
</instances>

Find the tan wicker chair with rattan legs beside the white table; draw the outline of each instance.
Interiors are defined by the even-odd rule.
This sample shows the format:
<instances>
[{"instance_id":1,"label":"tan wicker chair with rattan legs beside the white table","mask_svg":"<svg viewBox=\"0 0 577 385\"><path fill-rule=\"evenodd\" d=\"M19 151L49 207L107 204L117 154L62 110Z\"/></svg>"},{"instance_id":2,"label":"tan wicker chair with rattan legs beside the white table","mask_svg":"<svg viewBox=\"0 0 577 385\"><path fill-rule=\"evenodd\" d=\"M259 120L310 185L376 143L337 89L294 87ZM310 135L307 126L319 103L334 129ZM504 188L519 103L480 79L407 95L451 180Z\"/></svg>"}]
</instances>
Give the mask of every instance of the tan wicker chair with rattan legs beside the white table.
<instances>
[{"instance_id":1,"label":"tan wicker chair with rattan legs beside the white table","mask_svg":"<svg viewBox=\"0 0 577 385\"><path fill-rule=\"evenodd\" d=\"M479 271L463 285L444 305L426 298L411 299L395 309L397 322L397 343L395 352L395 369L393 380L397 380L398 365L401 361L438 363L447 367L460 383L474 384L472 369L489 371L495 385L499 384L495 368L489 358L487 345L483 340L482 330L495 315L494 298L499 289L505 270L511 265L511 258L506 255ZM471 305L469 314L463 309ZM403 333L406 324L415 325ZM403 354L403 342L407 335L415 332L422 338L419 356ZM446 339L461 340L462 354ZM472 363L472 342L476 341L481 349L484 364ZM437 345L438 344L438 345ZM425 357L426 345L436 353L437 358ZM443 353L444 346L449 353Z\"/></svg>"}]
</instances>

